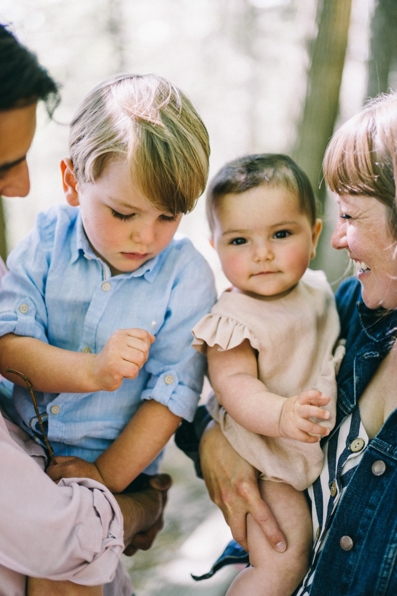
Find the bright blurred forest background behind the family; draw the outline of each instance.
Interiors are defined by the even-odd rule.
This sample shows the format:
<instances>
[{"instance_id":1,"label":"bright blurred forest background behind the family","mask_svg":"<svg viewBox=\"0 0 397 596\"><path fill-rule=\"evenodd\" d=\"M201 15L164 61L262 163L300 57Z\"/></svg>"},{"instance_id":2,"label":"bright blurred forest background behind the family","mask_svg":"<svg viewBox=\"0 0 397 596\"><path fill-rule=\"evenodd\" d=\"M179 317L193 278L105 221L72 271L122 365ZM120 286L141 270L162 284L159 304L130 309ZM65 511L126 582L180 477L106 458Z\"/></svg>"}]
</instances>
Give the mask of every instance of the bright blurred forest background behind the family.
<instances>
[{"instance_id":1,"label":"bright blurred forest background behind the family","mask_svg":"<svg viewBox=\"0 0 397 596\"><path fill-rule=\"evenodd\" d=\"M324 182L319 188L321 162L341 123L369 97L397 88L395 0L0 0L0 22L36 52L62 95L54 120L40 108L29 197L2 199L0 253L37 212L64 203L59 162L77 103L114 73L154 72L179 86L207 125L210 176L246 153L287 153L304 167L325 224L312 266L336 289L349 259L329 246L336 209ZM204 201L179 232L210 262L221 291L227 280L208 242ZM175 480L165 529L151 551L126 559L136 594L221 596L235 570L199 584L190 572L208 570L229 529L172 443L164 469Z\"/></svg>"}]
</instances>

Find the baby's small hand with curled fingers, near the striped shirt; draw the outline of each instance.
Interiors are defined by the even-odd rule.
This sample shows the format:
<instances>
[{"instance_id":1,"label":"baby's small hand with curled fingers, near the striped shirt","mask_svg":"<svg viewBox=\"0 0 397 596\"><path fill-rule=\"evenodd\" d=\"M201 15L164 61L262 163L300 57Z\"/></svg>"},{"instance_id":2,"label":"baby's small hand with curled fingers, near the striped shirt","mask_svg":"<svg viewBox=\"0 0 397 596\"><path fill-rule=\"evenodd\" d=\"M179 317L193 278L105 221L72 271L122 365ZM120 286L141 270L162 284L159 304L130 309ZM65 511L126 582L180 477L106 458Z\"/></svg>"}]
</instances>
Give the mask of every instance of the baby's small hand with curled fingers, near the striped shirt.
<instances>
[{"instance_id":1,"label":"baby's small hand with curled fingers, near the striped shirt","mask_svg":"<svg viewBox=\"0 0 397 596\"><path fill-rule=\"evenodd\" d=\"M320 406L326 406L329 401L329 396L315 390L303 391L286 399L280 416L281 436L304 443L317 443L322 436L329 434L329 429L315 424L309 418L328 420L330 413ZM309 433L320 436L312 436Z\"/></svg>"}]
</instances>

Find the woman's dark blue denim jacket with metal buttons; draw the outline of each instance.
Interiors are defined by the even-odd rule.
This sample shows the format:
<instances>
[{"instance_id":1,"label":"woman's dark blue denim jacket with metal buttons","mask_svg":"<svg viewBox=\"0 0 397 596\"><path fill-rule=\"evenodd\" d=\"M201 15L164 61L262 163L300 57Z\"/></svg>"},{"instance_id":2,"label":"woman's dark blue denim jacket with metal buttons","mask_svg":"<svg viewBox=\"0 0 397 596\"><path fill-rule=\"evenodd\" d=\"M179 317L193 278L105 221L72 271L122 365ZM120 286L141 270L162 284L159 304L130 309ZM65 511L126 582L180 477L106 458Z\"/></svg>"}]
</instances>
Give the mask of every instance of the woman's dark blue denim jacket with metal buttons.
<instances>
[{"instance_id":1,"label":"woman's dark blue denim jacket with metal buttons","mask_svg":"<svg viewBox=\"0 0 397 596\"><path fill-rule=\"evenodd\" d=\"M397 330L397 313L373 311L361 300L360 282L352 278L336 294L341 337L346 338L346 356L337 377L336 426L348 416L380 362L389 352ZM185 423L176 436L177 445L192 457L198 468L195 445L206 426L198 411L193 423ZM376 476L374 462L386 464ZM351 551L340 547L342 536L353 541ZM247 555L238 545L229 545L229 562ZM232 548L233 547L233 548ZM232 555L232 556L230 556ZM244 559L240 559L244 560ZM390 414L371 440L337 507L329 535L317 561L310 596L396 596L397 595L397 409ZM213 571L224 561L217 561ZM207 574L207 576L212 575ZM203 578L204 579L204 578Z\"/></svg>"}]
</instances>

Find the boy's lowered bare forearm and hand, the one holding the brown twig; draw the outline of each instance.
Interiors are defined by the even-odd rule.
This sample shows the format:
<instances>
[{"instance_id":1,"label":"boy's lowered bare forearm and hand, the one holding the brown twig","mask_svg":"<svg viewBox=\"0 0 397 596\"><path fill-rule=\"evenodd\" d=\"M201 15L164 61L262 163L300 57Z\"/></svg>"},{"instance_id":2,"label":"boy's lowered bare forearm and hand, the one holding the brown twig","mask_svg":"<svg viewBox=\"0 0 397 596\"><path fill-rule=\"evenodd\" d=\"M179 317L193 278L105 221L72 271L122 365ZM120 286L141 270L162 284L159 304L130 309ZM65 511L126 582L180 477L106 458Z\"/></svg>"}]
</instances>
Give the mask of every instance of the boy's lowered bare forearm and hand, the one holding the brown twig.
<instances>
[{"instance_id":1,"label":"boy's lowered bare forearm and hand, the one holding the brown twig","mask_svg":"<svg viewBox=\"0 0 397 596\"><path fill-rule=\"evenodd\" d=\"M52 480L89 477L121 492L157 457L176 431L182 418L167 406L150 399L140 406L123 432L91 464L78 457L57 456L58 465L48 468Z\"/></svg>"}]
</instances>

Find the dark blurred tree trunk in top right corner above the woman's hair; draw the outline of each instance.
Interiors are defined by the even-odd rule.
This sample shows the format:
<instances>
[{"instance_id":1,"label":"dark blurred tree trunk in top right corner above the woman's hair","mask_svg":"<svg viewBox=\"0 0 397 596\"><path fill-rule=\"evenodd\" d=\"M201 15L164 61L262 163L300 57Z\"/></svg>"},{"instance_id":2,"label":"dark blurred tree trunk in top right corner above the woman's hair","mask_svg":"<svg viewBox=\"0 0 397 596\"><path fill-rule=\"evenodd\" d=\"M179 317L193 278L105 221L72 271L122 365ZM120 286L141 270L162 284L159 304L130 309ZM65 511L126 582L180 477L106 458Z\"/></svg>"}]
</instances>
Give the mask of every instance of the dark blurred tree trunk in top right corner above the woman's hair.
<instances>
[{"instance_id":1,"label":"dark blurred tree trunk in top right corner above the woman's hair","mask_svg":"<svg viewBox=\"0 0 397 596\"><path fill-rule=\"evenodd\" d=\"M386 93L390 67L397 57L397 2L378 0L371 21L367 97Z\"/></svg>"}]
</instances>

